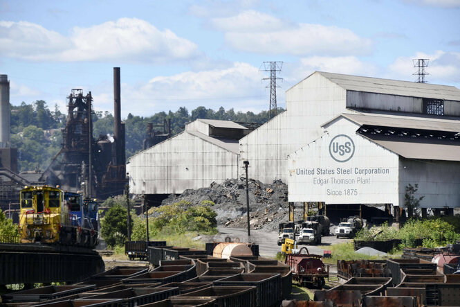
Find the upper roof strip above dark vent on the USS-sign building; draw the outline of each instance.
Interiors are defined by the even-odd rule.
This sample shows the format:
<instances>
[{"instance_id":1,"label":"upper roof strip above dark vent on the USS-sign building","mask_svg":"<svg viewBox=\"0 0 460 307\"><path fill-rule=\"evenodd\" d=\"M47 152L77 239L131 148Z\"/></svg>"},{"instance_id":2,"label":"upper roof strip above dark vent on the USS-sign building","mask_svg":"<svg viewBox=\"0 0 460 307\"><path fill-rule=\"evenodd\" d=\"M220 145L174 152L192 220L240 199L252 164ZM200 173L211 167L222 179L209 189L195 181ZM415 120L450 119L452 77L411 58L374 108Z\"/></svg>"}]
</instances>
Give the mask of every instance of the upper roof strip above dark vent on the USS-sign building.
<instances>
[{"instance_id":1,"label":"upper roof strip above dark vent on the USS-sign building","mask_svg":"<svg viewBox=\"0 0 460 307\"><path fill-rule=\"evenodd\" d=\"M324 123L328 125L338 117L344 117L358 125L374 125L381 127L407 128L418 130L435 130L460 132L460 120L427 118L419 116L403 116L390 114L347 114L342 113L335 116L331 121Z\"/></svg>"}]
</instances>

